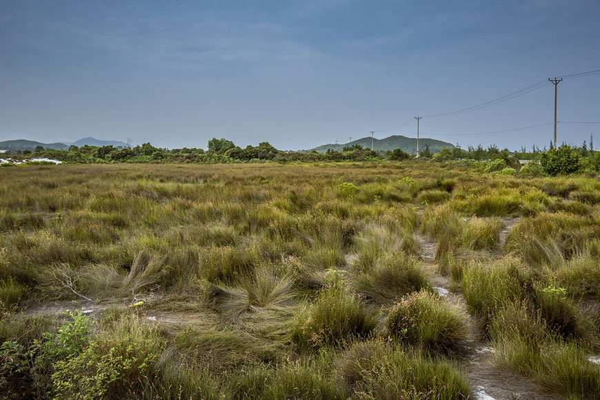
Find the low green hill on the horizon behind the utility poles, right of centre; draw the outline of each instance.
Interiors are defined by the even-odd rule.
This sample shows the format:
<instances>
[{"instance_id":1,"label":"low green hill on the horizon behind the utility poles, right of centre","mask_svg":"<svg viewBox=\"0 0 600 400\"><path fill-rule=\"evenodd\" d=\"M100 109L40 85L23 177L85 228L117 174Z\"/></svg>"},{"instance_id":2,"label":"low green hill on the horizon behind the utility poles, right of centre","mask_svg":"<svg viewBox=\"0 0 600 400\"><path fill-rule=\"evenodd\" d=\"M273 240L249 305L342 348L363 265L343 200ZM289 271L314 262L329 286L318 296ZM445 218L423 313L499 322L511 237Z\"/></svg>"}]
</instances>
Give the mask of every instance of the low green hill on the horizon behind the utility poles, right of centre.
<instances>
[{"instance_id":1,"label":"low green hill on the horizon behind the utility poles, right of centre","mask_svg":"<svg viewBox=\"0 0 600 400\"><path fill-rule=\"evenodd\" d=\"M342 144L324 144L323 146L316 147L311 150L317 150L317 152L324 153L328 149L332 150L342 150L345 147L354 146L355 144L359 144L363 146L363 148L371 147L371 138L363 137L362 139L357 139L351 141L350 143L342 143ZM425 147L429 146L429 151L432 153L437 153L443 148L449 148L452 150L454 145L452 143L448 143L446 141L436 140L436 139L419 139L419 150L425 150ZM373 139L373 147L375 151L388 151L394 149L402 149L404 152L408 154L417 153L417 138L416 137L406 137L400 134L395 134L390 137L386 137L386 139Z\"/></svg>"}]
</instances>

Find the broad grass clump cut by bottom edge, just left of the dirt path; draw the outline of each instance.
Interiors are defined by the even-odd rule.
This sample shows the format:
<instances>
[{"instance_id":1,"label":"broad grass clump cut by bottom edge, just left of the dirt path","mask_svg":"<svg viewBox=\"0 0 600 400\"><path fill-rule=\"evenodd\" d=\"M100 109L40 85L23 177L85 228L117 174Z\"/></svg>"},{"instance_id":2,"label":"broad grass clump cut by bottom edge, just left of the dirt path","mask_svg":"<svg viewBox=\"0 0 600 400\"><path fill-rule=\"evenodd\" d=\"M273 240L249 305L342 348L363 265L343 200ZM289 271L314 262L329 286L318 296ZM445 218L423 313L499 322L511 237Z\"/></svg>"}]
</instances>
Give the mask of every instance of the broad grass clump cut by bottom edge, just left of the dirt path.
<instances>
[{"instance_id":1,"label":"broad grass clump cut by bottom edge, just left of the dirt path","mask_svg":"<svg viewBox=\"0 0 600 400\"><path fill-rule=\"evenodd\" d=\"M467 399L469 383L437 361L379 339L356 342L337 359L339 381L358 399Z\"/></svg>"}]
</instances>

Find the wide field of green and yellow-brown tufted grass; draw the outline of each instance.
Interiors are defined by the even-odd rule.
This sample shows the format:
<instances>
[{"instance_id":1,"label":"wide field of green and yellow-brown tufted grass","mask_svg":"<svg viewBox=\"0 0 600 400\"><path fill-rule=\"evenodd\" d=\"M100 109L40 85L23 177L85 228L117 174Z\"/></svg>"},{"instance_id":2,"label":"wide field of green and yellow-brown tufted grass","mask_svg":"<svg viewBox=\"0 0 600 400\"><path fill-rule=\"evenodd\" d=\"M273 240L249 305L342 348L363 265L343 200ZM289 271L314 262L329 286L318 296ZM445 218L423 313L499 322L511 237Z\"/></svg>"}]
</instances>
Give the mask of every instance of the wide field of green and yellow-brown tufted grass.
<instances>
[{"instance_id":1,"label":"wide field of green and yellow-brown tufted grass","mask_svg":"<svg viewBox=\"0 0 600 400\"><path fill-rule=\"evenodd\" d=\"M598 399L599 211L460 161L2 168L0 396Z\"/></svg>"}]
</instances>

